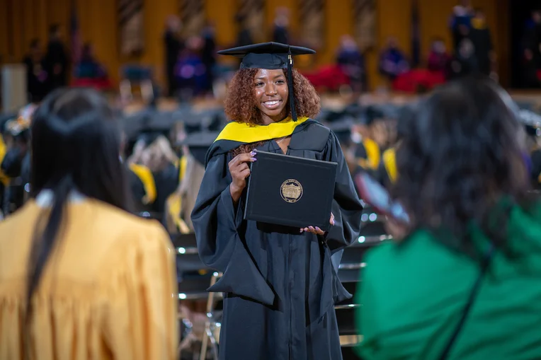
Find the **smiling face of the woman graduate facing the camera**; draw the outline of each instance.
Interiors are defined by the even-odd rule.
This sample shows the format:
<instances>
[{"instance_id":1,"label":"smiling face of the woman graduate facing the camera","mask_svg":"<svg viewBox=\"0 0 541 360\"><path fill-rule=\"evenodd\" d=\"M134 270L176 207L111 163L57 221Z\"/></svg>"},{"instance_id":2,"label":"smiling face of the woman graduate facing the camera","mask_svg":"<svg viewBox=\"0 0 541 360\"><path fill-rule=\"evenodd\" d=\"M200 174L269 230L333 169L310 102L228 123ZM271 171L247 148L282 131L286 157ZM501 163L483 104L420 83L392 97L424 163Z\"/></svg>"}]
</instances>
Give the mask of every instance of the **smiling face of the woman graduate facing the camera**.
<instances>
[{"instance_id":1,"label":"smiling face of the woman graduate facing the camera","mask_svg":"<svg viewBox=\"0 0 541 360\"><path fill-rule=\"evenodd\" d=\"M287 115L289 88L282 69L259 69L254 76L256 106L264 124L283 120Z\"/></svg>"}]
</instances>

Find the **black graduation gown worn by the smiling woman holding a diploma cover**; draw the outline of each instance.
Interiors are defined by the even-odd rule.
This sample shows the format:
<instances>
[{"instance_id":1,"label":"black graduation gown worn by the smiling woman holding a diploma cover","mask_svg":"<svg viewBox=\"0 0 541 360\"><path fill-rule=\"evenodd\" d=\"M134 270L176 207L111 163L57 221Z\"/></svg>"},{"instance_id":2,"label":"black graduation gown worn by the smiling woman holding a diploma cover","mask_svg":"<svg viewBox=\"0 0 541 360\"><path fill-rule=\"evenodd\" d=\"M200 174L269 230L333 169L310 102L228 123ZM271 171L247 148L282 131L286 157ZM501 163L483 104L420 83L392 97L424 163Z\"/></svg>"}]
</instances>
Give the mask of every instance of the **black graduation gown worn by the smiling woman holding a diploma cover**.
<instances>
[{"instance_id":1,"label":"black graduation gown worn by the smiling woman holding a diploma cover","mask_svg":"<svg viewBox=\"0 0 541 360\"><path fill-rule=\"evenodd\" d=\"M334 303L351 294L341 285L331 255L358 237L363 207L338 139L307 120L293 130L287 151L338 163L332 207L336 223L325 237L243 220L246 194L234 207L227 168L229 151L239 144L217 140L209 149L192 212L201 260L223 272L209 289L224 293L220 359L342 359ZM272 140L257 149L281 151Z\"/></svg>"}]
</instances>

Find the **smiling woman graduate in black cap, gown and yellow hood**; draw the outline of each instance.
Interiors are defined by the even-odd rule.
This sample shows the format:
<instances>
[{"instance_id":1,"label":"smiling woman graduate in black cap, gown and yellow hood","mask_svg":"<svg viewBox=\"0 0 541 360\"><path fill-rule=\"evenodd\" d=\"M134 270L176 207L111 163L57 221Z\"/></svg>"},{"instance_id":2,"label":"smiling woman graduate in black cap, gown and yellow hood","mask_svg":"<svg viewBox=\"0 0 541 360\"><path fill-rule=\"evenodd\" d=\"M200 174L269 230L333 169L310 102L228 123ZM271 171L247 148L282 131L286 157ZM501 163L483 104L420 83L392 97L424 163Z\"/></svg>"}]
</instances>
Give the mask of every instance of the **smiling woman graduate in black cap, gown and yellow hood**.
<instances>
[{"instance_id":1,"label":"smiling woman graduate in black cap, gown and yellow hood","mask_svg":"<svg viewBox=\"0 0 541 360\"><path fill-rule=\"evenodd\" d=\"M291 66L314 51L271 42L219 53L242 58L225 100L233 121L207 152L192 221L201 259L223 272L210 288L224 293L220 359L341 359L334 303L351 295L331 255L357 238L363 207L335 134L309 118L319 96ZM244 220L256 151L338 163L329 232Z\"/></svg>"}]
</instances>

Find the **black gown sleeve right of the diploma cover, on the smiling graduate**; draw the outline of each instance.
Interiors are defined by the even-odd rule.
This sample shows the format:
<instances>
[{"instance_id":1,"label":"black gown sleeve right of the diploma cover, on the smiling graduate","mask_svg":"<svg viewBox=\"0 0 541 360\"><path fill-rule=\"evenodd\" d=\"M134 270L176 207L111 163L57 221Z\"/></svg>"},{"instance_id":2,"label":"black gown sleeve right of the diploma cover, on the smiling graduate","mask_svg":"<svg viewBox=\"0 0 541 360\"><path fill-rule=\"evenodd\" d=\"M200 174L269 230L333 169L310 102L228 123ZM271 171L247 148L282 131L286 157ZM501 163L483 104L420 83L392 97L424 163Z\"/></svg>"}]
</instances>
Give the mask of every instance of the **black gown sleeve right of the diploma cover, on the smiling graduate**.
<instances>
[{"instance_id":1,"label":"black gown sleeve right of the diploma cover, on the smiling graduate","mask_svg":"<svg viewBox=\"0 0 541 360\"><path fill-rule=\"evenodd\" d=\"M340 143L336 139L336 135L332 132L329 136L325 156L326 161L338 163L331 210L335 223L325 236L329 249L334 253L341 248L351 245L358 238L363 205L355 190L355 185L353 185L353 179L351 178L346 158L343 156Z\"/></svg>"}]
</instances>

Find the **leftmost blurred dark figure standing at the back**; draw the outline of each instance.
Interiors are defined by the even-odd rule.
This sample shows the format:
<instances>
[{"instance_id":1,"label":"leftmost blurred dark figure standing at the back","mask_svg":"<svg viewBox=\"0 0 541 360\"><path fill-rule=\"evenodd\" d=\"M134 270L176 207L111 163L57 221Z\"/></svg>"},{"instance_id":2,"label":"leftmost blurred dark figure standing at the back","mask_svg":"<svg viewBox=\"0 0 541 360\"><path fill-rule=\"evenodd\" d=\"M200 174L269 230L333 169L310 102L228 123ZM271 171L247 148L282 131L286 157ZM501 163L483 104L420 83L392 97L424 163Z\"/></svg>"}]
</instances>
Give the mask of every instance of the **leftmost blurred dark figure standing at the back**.
<instances>
[{"instance_id":1,"label":"leftmost blurred dark figure standing at the back","mask_svg":"<svg viewBox=\"0 0 541 360\"><path fill-rule=\"evenodd\" d=\"M26 66L26 88L30 94L29 100L38 103L47 95L49 78L40 40L34 39L30 42L30 52L23 62Z\"/></svg>"}]
</instances>

